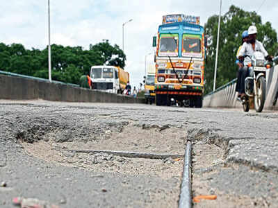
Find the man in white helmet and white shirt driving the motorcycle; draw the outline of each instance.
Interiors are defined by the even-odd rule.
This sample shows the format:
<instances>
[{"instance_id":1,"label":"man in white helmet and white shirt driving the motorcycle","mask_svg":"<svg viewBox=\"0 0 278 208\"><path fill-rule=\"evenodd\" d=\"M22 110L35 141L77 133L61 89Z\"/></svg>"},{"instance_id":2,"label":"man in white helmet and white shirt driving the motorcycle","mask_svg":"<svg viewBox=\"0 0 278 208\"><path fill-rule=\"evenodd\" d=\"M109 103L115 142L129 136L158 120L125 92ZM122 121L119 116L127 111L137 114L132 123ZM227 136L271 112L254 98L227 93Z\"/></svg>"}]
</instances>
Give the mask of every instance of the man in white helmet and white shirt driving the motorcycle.
<instances>
[{"instance_id":1,"label":"man in white helmet and white shirt driving the motorcycle","mask_svg":"<svg viewBox=\"0 0 278 208\"><path fill-rule=\"evenodd\" d=\"M259 42L259 40L256 40L256 33L257 29L256 26L250 26L248 28L248 35L249 35L249 41L243 43L243 46L241 47L237 58L240 61L243 61L244 66L240 69L242 71L240 73L240 80L238 83L238 93L241 94L241 97L245 96L245 78L247 78L249 70L248 70L248 64L251 63L252 55L255 51L261 51L263 53L266 60L272 60L272 55L268 55L268 52L263 47L263 44ZM248 55L246 58L245 55Z\"/></svg>"}]
</instances>

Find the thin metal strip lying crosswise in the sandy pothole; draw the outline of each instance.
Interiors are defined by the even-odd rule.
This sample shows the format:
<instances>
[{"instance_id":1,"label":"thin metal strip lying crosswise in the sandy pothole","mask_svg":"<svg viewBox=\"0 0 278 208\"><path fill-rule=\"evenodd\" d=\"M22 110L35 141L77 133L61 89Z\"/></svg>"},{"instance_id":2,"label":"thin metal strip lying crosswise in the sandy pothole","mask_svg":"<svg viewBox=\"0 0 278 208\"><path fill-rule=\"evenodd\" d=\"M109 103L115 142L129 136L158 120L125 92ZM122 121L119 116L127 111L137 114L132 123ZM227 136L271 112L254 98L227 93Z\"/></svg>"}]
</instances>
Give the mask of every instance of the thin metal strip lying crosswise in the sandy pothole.
<instances>
[{"instance_id":1,"label":"thin metal strip lying crosswise in the sandy pothole","mask_svg":"<svg viewBox=\"0 0 278 208\"><path fill-rule=\"evenodd\" d=\"M166 159L184 157L184 155L174 155L174 154L159 154L159 153L136 153L136 152L122 152L122 151L112 151L112 150L67 150L74 153L107 153L111 155L117 155L121 157L138 157L146 159Z\"/></svg>"}]
</instances>

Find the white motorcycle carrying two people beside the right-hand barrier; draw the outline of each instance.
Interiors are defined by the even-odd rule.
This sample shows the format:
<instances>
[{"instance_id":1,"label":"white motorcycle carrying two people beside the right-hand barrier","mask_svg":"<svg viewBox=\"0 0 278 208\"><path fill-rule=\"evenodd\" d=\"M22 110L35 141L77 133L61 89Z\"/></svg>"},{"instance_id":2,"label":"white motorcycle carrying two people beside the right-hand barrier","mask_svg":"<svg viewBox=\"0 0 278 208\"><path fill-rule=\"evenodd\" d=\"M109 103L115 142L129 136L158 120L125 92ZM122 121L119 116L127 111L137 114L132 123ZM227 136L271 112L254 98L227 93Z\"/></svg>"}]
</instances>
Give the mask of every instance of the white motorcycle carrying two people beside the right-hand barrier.
<instances>
[{"instance_id":1,"label":"white motorcycle carrying two people beside the right-hand barrier","mask_svg":"<svg viewBox=\"0 0 278 208\"><path fill-rule=\"evenodd\" d=\"M241 97L243 110L248 112L250 105L254 104L256 112L262 112L266 96L266 71L270 69L270 63L265 61L260 51L246 57L251 59L251 63L248 64L248 76L245 78L245 96Z\"/></svg>"}]
</instances>

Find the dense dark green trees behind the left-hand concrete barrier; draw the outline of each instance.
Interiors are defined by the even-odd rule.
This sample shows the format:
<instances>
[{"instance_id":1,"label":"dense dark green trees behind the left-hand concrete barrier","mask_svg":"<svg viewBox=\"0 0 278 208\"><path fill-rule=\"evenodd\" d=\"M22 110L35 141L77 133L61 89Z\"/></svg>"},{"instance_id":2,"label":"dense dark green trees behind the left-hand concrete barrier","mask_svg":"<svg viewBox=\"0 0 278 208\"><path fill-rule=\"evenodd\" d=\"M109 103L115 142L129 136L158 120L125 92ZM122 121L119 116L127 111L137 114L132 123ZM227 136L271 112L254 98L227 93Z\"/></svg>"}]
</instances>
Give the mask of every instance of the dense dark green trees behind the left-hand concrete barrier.
<instances>
[{"instance_id":1,"label":"dense dark green trees behind the left-hand concrete barrier","mask_svg":"<svg viewBox=\"0 0 278 208\"><path fill-rule=\"evenodd\" d=\"M53 80L79 84L82 75L90 74L93 65L124 67L126 56L119 46L111 46L108 40L90 44L89 50L81 46L51 45L51 75ZM0 70L28 76L48 78L48 46L42 51L27 50L22 44L0 43Z\"/></svg>"}]
</instances>

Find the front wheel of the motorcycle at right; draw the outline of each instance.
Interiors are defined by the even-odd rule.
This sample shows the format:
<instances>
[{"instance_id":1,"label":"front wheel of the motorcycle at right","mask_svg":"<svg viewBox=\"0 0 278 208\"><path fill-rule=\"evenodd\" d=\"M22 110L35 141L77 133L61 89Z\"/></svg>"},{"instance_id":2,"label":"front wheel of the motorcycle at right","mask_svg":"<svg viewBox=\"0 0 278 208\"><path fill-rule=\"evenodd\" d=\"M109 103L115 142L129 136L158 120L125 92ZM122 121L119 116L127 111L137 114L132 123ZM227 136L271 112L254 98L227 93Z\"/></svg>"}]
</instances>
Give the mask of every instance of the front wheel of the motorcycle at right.
<instances>
[{"instance_id":1,"label":"front wheel of the motorcycle at right","mask_svg":"<svg viewBox=\"0 0 278 208\"><path fill-rule=\"evenodd\" d=\"M261 76L256 82L257 95L254 97L254 107L256 112L262 112L265 105L266 83L265 78Z\"/></svg>"}]
</instances>

